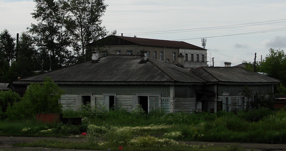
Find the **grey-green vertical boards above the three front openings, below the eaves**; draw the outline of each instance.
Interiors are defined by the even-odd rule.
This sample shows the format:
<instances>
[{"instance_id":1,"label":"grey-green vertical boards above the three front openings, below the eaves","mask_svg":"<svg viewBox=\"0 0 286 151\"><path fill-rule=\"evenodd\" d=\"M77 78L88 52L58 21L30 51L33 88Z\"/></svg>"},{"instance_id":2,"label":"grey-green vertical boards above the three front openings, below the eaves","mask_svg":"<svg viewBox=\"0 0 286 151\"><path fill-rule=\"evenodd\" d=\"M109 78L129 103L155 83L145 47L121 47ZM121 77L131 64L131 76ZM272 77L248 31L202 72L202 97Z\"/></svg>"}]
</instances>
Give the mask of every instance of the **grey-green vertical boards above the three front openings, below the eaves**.
<instances>
[{"instance_id":1,"label":"grey-green vertical boards above the three front openings, below the eaves","mask_svg":"<svg viewBox=\"0 0 286 151\"><path fill-rule=\"evenodd\" d=\"M170 85L80 85L80 84L59 84L60 88L66 90L66 94L78 95L79 93L116 93L116 95L135 95L135 93L161 94L162 97L170 97Z\"/></svg>"}]
</instances>

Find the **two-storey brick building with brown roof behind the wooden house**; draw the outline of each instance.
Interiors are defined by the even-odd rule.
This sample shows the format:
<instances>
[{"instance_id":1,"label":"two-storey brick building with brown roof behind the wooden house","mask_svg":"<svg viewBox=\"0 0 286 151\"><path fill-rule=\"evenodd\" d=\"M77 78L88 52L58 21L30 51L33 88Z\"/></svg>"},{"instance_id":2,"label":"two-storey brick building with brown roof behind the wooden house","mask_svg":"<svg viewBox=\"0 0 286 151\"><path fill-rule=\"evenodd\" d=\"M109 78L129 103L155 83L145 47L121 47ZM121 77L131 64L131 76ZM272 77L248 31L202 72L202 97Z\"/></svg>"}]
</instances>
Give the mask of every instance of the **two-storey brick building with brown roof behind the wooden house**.
<instances>
[{"instance_id":1,"label":"two-storey brick building with brown roof behind the wooden house","mask_svg":"<svg viewBox=\"0 0 286 151\"><path fill-rule=\"evenodd\" d=\"M183 41L108 36L90 43L89 47L100 52L99 57L109 54L138 55L144 50L148 57L186 68L207 66L207 50Z\"/></svg>"}]
</instances>

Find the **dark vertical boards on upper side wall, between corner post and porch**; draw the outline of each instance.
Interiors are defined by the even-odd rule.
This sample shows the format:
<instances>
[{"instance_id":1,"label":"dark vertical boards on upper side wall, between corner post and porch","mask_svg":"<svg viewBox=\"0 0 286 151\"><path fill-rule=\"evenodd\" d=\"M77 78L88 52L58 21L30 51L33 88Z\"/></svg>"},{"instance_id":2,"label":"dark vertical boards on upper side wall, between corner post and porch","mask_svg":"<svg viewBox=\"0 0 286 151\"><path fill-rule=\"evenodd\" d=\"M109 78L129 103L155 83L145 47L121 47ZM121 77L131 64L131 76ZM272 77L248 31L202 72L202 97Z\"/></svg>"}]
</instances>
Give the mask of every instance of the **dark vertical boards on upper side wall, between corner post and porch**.
<instances>
[{"instance_id":1,"label":"dark vertical boards on upper side wall, between corner post and porch","mask_svg":"<svg viewBox=\"0 0 286 151\"><path fill-rule=\"evenodd\" d=\"M202 86L197 85L175 85L175 98L195 98L195 90L201 90Z\"/></svg>"}]
</instances>

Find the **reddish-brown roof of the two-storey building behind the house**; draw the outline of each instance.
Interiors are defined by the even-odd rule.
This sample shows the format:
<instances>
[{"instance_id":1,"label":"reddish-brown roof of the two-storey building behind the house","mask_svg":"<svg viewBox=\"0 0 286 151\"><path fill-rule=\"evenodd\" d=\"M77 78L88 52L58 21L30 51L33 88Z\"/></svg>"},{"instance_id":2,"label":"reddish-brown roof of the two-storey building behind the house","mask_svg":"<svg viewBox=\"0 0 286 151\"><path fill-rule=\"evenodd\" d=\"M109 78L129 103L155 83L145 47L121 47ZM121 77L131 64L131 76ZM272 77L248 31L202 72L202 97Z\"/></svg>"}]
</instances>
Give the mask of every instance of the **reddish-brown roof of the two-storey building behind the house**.
<instances>
[{"instance_id":1,"label":"reddish-brown roof of the two-storey building behind the house","mask_svg":"<svg viewBox=\"0 0 286 151\"><path fill-rule=\"evenodd\" d=\"M197 49L197 50L206 50L202 47L198 47L184 41L170 41L170 40L158 40L158 39L148 39L148 38L135 38L135 37L125 37L125 36L108 36L106 39L110 37L119 38L125 41L129 41L136 45L140 46L154 46L154 47L170 47L170 48L187 48L187 49ZM103 38L104 39L104 38ZM100 39L102 40L102 39ZM90 43L89 45L96 45L96 41L94 43ZM106 45L106 44L103 44Z\"/></svg>"}]
</instances>

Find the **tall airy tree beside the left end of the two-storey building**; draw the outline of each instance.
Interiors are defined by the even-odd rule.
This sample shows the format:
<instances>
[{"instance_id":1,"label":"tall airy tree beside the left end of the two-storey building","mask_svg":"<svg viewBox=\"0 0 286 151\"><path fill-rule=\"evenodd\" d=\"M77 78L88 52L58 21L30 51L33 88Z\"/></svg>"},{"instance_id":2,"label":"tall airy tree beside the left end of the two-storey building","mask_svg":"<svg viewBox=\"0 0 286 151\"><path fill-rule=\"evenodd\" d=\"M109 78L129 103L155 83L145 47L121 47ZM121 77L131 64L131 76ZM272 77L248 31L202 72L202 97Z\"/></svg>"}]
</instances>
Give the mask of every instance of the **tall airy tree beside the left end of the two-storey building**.
<instances>
[{"instance_id":1,"label":"tall airy tree beside the left end of the two-storey building","mask_svg":"<svg viewBox=\"0 0 286 151\"><path fill-rule=\"evenodd\" d=\"M84 56L88 43L107 35L101 26L107 5L104 0L61 0L66 11L65 28L75 43L79 43Z\"/></svg>"}]
</instances>

